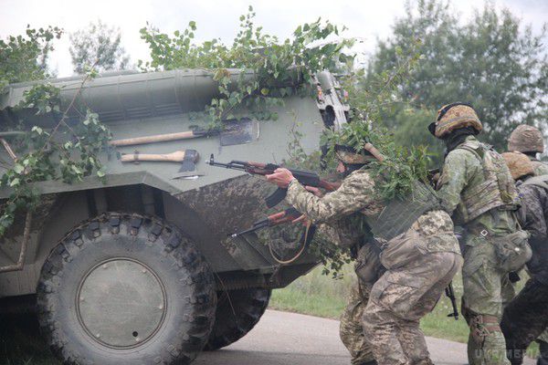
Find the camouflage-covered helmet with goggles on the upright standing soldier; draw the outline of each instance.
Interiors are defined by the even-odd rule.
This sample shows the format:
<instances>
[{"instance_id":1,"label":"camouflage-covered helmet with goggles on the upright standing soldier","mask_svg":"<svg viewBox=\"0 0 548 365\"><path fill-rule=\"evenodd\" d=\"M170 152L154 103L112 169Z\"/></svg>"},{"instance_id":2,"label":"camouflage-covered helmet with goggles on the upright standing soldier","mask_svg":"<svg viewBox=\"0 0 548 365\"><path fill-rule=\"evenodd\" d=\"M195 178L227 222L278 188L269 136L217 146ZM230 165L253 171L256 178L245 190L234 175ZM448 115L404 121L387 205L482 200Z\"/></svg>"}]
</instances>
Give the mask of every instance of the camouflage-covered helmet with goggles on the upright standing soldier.
<instances>
[{"instance_id":1,"label":"camouflage-covered helmet with goggles on the upright standing soldier","mask_svg":"<svg viewBox=\"0 0 548 365\"><path fill-rule=\"evenodd\" d=\"M453 130L472 127L478 134L483 127L478 114L471 105L463 102L455 102L444 105L437 110L437 120L428 126L430 133L439 139L444 139Z\"/></svg>"}]
</instances>

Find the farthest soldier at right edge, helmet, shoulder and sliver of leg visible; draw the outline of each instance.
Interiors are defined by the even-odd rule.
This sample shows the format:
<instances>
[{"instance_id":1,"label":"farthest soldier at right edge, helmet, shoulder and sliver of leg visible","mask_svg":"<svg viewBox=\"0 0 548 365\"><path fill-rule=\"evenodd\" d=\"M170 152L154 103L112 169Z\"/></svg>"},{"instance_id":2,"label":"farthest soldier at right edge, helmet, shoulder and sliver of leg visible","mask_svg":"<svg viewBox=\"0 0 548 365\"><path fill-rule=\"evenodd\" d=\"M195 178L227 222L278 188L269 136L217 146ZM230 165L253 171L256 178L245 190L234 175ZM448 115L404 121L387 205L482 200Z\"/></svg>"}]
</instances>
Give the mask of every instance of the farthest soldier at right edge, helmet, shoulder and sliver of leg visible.
<instances>
[{"instance_id":1,"label":"farthest soldier at right edge, helmet, shoulder and sliver of leg visible","mask_svg":"<svg viewBox=\"0 0 548 365\"><path fill-rule=\"evenodd\" d=\"M525 124L518 126L511 132L508 139L508 151L520 151L526 154L532 162L535 176L548 174L548 165L537 159L537 153L544 152L544 137L540 130ZM539 364L548 364L548 329L538 338L538 342L541 353L544 354Z\"/></svg>"}]
</instances>

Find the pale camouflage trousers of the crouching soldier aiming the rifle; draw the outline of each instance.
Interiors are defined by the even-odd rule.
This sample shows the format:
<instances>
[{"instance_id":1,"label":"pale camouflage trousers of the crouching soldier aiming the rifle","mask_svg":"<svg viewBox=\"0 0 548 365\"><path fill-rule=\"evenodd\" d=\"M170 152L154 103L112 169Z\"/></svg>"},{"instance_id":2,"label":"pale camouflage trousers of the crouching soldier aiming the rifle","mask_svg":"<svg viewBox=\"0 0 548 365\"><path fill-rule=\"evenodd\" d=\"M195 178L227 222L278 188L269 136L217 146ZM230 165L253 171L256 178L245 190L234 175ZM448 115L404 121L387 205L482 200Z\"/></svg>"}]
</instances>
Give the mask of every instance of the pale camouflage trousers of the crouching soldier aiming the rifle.
<instances>
[{"instance_id":1,"label":"pale camouflage trousers of the crouching soldier aiming the rifle","mask_svg":"<svg viewBox=\"0 0 548 365\"><path fill-rule=\"evenodd\" d=\"M382 365L432 364L419 321L462 266L452 252L427 253L386 271L371 291L364 313L364 331L374 341L374 359Z\"/></svg>"}]
</instances>

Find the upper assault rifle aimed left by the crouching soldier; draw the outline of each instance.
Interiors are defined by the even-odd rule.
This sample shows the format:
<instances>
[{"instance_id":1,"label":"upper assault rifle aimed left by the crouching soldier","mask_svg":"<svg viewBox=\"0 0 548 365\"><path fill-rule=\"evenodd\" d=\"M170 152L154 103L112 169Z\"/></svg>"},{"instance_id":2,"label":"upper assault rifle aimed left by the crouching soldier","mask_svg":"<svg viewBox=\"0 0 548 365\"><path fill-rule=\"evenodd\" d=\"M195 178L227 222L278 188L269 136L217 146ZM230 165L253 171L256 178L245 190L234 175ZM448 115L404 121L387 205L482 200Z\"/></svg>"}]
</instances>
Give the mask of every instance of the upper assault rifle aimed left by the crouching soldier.
<instances>
[{"instance_id":1,"label":"upper assault rifle aimed left by the crouching soldier","mask_svg":"<svg viewBox=\"0 0 548 365\"><path fill-rule=\"evenodd\" d=\"M211 166L224 167L226 169L238 170L242 172L248 172L254 175L269 175L282 166L275 163L263 163L263 162L244 162L244 161L231 161L228 163L216 162L213 154L209 158L209 162L206 162ZM313 186L321 188L328 192L336 190L340 184L330 183L325 180L321 180L320 176L315 172L306 172L301 170L289 169L297 181L303 185ZM269 208L276 206L280 203L288 193L287 189L278 188L274 193L265 199Z\"/></svg>"}]
</instances>

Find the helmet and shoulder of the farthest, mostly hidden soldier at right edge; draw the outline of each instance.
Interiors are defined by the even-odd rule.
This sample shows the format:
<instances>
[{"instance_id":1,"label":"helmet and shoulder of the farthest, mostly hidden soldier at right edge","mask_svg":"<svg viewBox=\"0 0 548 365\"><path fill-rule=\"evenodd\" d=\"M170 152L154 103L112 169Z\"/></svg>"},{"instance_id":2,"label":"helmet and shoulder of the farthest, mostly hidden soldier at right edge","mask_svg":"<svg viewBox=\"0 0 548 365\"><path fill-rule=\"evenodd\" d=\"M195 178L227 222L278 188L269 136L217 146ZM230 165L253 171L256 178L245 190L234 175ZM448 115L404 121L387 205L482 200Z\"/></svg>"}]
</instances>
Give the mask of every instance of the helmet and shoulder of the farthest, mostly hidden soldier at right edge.
<instances>
[{"instance_id":1,"label":"helmet and shoulder of the farthest, mostly hidden soldier at right edge","mask_svg":"<svg viewBox=\"0 0 548 365\"><path fill-rule=\"evenodd\" d=\"M519 151L527 155L532 162L535 176L548 174L548 165L540 162L536 155L544 152L543 133L536 128L522 124L511 132L508 139L508 151Z\"/></svg>"}]
</instances>

